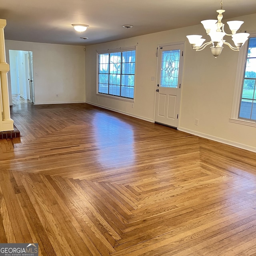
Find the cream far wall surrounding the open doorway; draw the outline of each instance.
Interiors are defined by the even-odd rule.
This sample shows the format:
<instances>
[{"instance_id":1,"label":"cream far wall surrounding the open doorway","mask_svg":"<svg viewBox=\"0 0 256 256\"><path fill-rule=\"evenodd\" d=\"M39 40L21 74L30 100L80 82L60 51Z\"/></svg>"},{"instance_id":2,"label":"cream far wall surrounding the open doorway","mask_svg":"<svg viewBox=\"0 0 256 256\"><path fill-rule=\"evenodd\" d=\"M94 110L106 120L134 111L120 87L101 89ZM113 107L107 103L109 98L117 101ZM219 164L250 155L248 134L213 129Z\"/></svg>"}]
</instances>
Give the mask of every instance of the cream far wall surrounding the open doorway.
<instances>
[{"instance_id":1,"label":"cream far wall surrounding the open doorway","mask_svg":"<svg viewBox=\"0 0 256 256\"><path fill-rule=\"evenodd\" d=\"M35 104L85 102L83 46L6 40L5 47L7 63L9 50L33 52ZM9 90L10 82L8 72Z\"/></svg>"}]
</instances>

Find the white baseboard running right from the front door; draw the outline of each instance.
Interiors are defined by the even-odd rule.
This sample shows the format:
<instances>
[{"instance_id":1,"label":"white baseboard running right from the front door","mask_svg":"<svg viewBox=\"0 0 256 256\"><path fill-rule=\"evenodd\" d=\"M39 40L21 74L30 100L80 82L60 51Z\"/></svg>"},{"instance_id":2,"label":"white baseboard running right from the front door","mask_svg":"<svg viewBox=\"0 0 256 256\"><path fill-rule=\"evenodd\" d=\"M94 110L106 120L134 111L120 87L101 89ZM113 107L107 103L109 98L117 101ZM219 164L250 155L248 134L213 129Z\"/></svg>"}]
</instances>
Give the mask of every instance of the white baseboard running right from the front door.
<instances>
[{"instance_id":1,"label":"white baseboard running right from the front door","mask_svg":"<svg viewBox=\"0 0 256 256\"><path fill-rule=\"evenodd\" d=\"M236 148L242 148L242 149L245 149L245 150L248 150L248 151L256 152L256 148L245 145L245 144L241 144L241 143L234 142L234 141L231 141L231 140L225 140L223 138L218 138L218 137L215 137L215 136L211 136L209 134L204 134L202 132L196 132L196 131L189 130L189 129L182 128L182 127L179 127L179 130L182 131L182 132L187 132L187 133L190 133L190 134L194 134L194 135L202 137L202 138L206 138L206 139L209 139L209 140L214 140L214 141L221 142L221 143L224 143L224 144L227 144L227 145L230 145L230 146L234 146Z\"/></svg>"}]
</instances>

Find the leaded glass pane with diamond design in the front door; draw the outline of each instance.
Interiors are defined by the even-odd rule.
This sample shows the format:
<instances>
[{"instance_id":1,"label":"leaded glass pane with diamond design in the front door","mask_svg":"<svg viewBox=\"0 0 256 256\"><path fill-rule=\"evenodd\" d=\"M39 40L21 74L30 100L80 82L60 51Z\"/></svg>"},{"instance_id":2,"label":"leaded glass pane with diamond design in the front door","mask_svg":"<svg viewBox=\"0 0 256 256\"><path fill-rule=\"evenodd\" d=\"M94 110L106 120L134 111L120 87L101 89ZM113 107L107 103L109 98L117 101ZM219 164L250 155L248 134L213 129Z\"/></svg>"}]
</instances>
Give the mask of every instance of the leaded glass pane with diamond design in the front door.
<instances>
[{"instance_id":1,"label":"leaded glass pane with diamond design in the front door","mask_svg":"<svg viewBox=\"0 0 256 256\"><path fill-rule=\"evenodd\" d=\"M161 87L178 87L180 50L162 52Z\"/></svg>"}]
</instances>

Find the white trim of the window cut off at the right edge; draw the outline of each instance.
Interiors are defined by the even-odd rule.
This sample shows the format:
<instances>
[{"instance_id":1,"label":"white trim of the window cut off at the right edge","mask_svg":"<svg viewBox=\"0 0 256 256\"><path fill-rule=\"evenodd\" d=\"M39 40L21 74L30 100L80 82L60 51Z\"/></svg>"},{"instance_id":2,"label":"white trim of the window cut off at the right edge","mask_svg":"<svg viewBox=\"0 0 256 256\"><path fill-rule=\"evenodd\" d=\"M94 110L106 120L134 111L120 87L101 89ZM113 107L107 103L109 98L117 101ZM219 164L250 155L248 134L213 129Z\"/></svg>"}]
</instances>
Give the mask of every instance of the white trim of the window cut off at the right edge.
<instances>
[{"instance_id":1,"label":"white trim of the window cut off at the right edge","mask_svg":"<svg viewBox=\"0 0 256 256\"><path fill-rule=\"evenodd\" d=\"M256 37L256 31L250 32L249 38L252 38L252 37ZM248 43L249 43L249 40L246 41L246 43L242 46L241 50L239 51L234 99L233 99L232 112L231 112L231 117L229 118L229 122L256 127L256 121L239 118L239 110L240 110L240 104L242 99L244 71L245 71L245 65L246 65L247 53L248 53Z\"/></svg>"}]
</instances>

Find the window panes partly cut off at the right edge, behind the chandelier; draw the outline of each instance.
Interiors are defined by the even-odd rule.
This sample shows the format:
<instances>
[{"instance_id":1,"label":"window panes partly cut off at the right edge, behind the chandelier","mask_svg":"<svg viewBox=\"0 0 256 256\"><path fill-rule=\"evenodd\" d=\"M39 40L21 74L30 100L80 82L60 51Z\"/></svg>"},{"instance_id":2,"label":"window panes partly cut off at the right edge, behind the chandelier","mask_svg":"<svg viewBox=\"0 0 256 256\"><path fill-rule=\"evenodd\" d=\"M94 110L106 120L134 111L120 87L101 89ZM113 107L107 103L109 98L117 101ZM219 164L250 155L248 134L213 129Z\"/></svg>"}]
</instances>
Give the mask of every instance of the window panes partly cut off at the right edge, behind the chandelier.
<instances>
[{"instance_id":1,"label":"window panes partly cut off at the right edge, behind the chandelier","mask_svg":"<svg viewBox=\"0 0 256 256\"><path fill-rule=\"evenodd\" d=\"M256 121L256 37L249 38L239 118Z\"/></svg>"}]
</instances>

